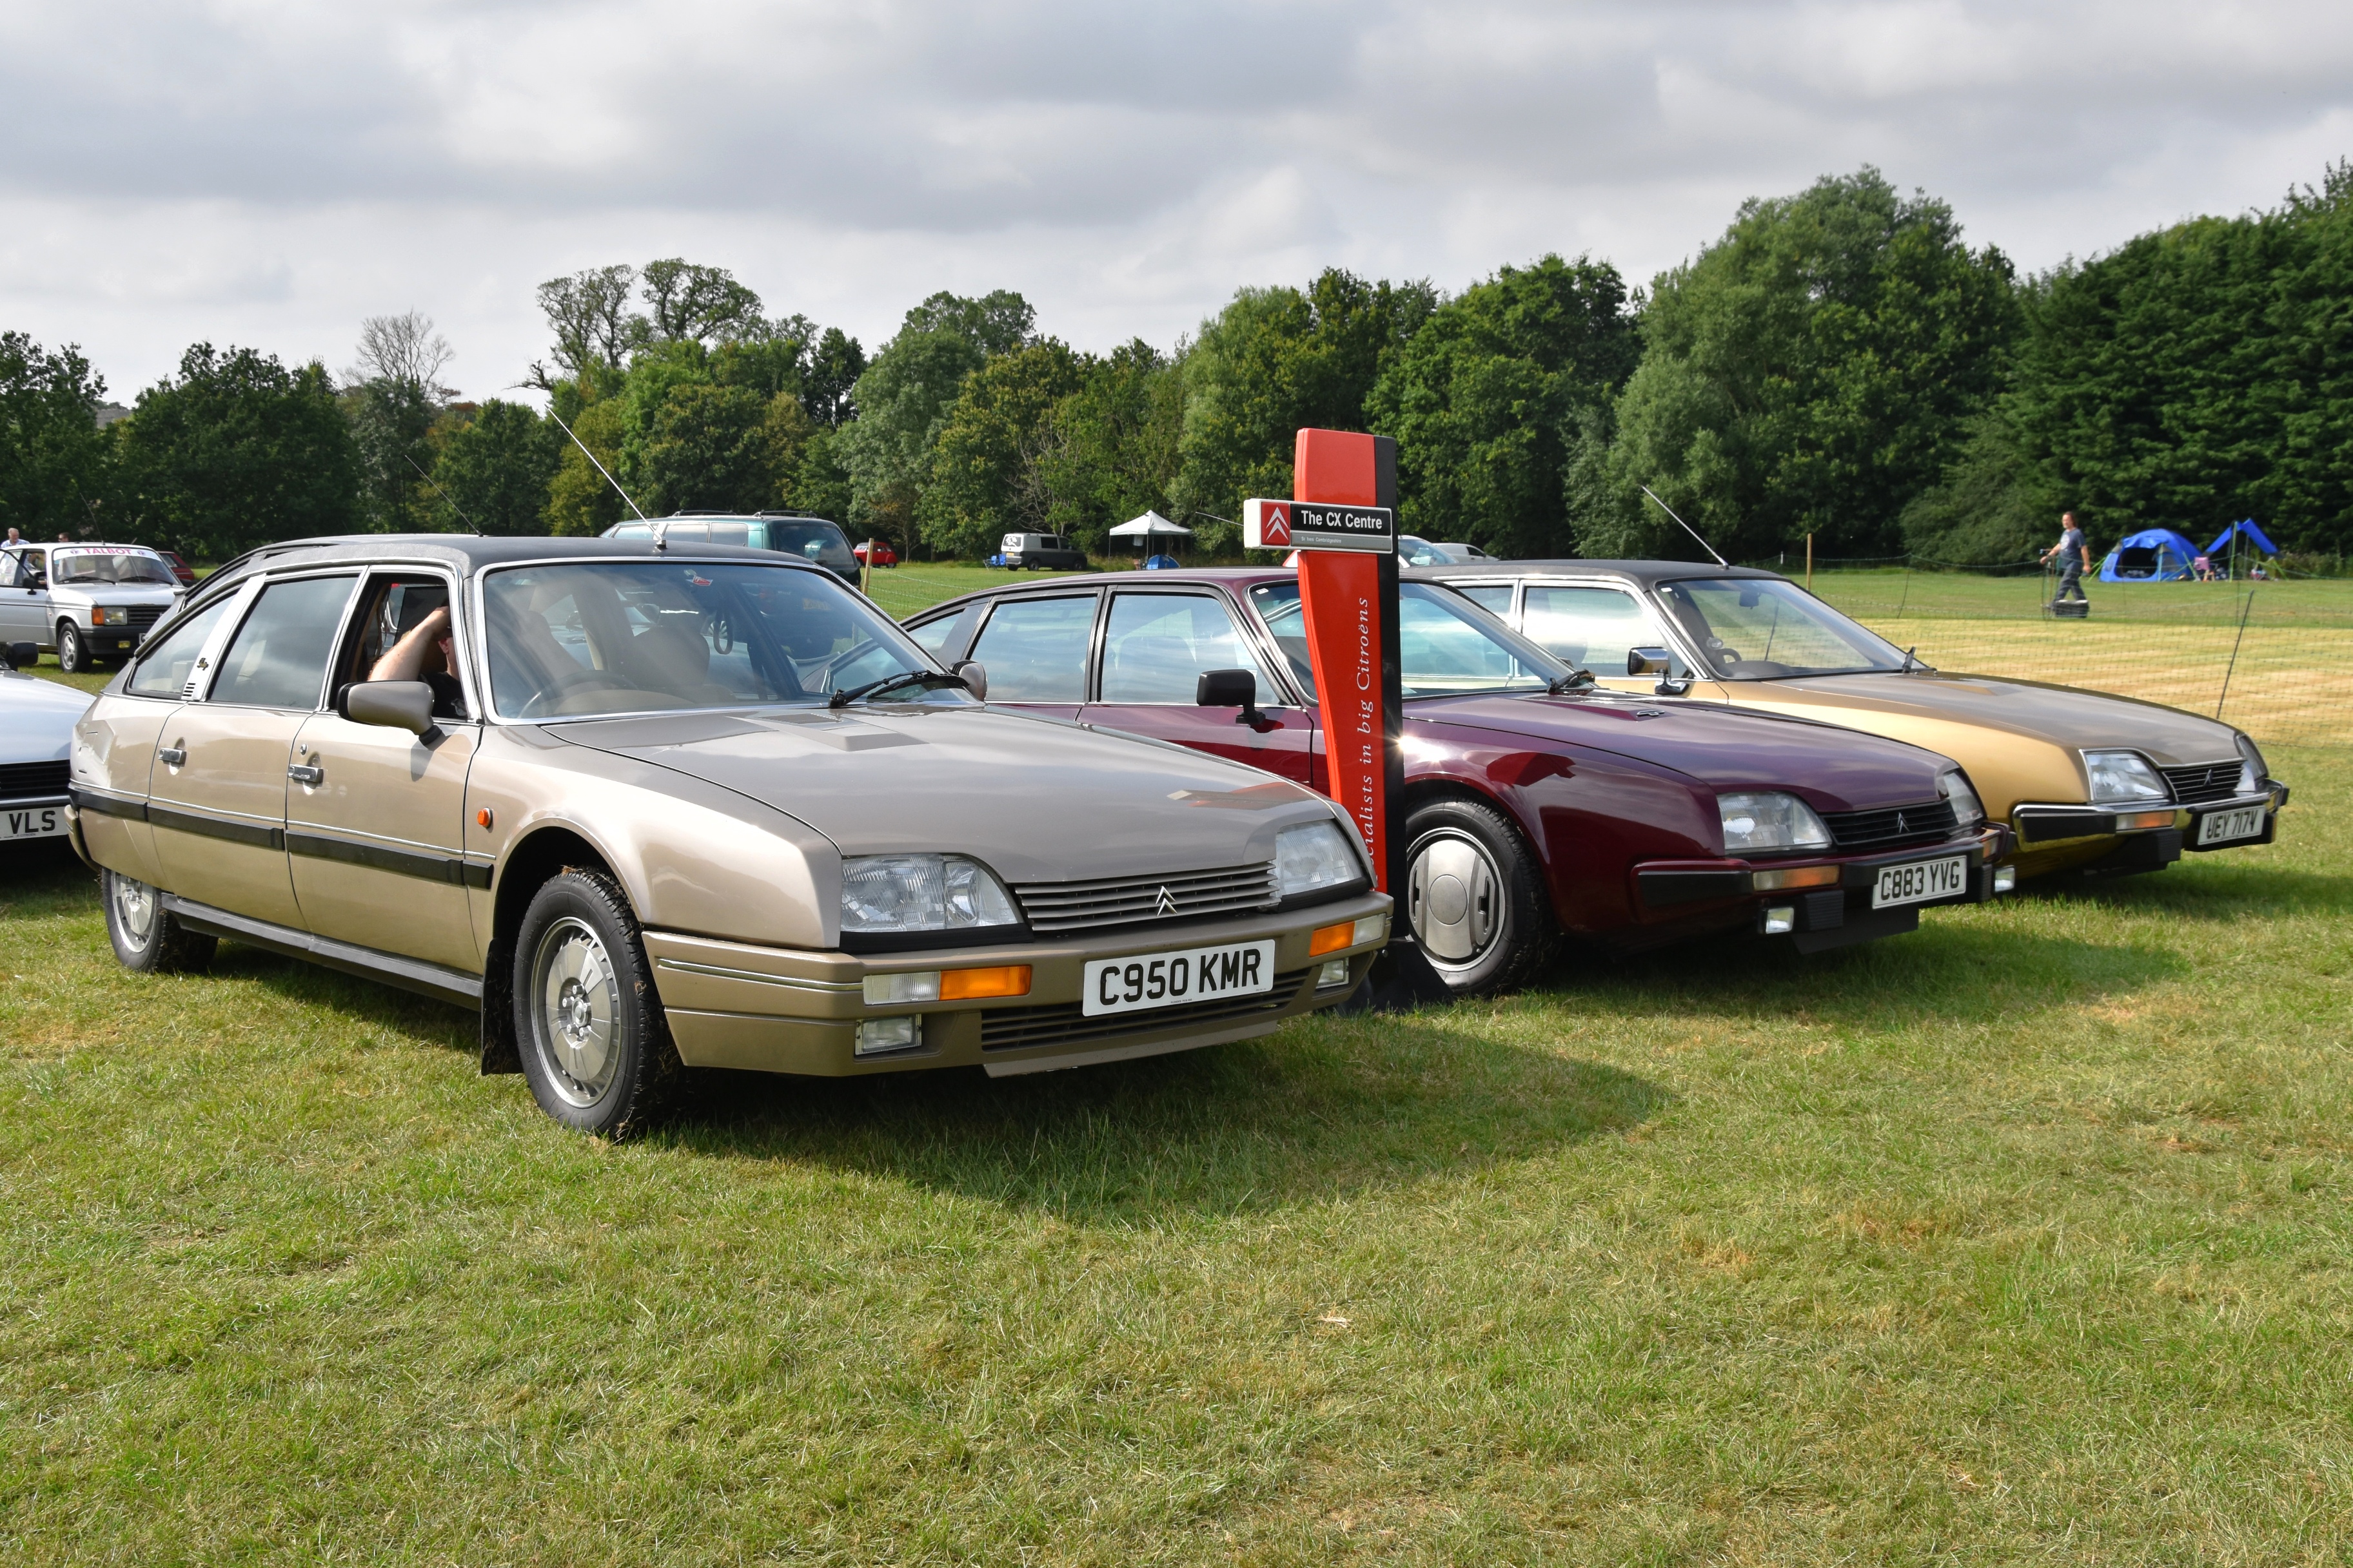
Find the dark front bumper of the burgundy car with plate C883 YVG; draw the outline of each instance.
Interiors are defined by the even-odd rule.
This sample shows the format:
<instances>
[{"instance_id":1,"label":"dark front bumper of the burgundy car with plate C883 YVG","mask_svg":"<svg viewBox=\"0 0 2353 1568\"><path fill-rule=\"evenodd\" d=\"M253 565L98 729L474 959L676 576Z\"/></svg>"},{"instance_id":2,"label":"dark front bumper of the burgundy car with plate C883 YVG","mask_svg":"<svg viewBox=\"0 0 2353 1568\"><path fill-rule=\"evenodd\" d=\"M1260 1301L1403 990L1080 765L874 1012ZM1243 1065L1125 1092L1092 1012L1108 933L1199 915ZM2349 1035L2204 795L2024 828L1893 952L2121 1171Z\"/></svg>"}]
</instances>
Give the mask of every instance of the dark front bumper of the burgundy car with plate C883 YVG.
<instances>
[{"instance_id":1,"label":"dark front bumper of the burgundy car with plate C883 YVG","mask_svg":"<svg viewBox=\"0 0 2353 1568\"><path fill-rule=\"evenodd\" d=\"M1868 943L1882 936L1901 936L1920 929L1920 910L1953 903L1986 903L1998 896L1993 870L2017 849L2017 837L2000 823L1988 823L1969 837L1944 844L1915 844L1875 856L1817 856L1805 860L1671 860L1638 865L1633 872L1635 898L1647 919L1673 919L1687 924L1704 910L1713 914L1708 924L1718 929L1748 924L1765 933L1767 912L1786 912L1786 933L1800 952L1821 952ZM1967 886L1946 898L1871 907L1871 889L1882 870L1913 865L1920 860L1944 860L1967 856ZM1788 886L1788 877L1835 867L1835 882ZM1781 886L1758 886L1781 882ZM1779 933L1779 931L1774 931Z\"/></svg>"}]
</instances>

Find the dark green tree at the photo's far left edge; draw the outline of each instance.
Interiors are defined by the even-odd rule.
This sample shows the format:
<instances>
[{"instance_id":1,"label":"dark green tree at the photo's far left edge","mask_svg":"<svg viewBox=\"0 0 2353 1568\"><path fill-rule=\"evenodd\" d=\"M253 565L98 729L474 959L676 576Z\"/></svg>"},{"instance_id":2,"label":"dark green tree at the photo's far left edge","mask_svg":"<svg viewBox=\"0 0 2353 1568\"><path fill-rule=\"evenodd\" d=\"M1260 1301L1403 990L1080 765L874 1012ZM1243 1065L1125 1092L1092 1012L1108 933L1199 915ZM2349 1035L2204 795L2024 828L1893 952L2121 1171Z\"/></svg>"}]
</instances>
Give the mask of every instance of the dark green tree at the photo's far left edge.
<instances>
[{"instance_id":1,"label":"dark green tree at the photo's far left edge","mask_svg":"<svg viewBox=\"0 0 2353 1568\"><path fill-rule=\"evenodd\" d=\"M106 435L96 423L106 381L68 343L45 350L0 331L0 524L26 538L104 531Z\"/></svg>"}]
</instances>

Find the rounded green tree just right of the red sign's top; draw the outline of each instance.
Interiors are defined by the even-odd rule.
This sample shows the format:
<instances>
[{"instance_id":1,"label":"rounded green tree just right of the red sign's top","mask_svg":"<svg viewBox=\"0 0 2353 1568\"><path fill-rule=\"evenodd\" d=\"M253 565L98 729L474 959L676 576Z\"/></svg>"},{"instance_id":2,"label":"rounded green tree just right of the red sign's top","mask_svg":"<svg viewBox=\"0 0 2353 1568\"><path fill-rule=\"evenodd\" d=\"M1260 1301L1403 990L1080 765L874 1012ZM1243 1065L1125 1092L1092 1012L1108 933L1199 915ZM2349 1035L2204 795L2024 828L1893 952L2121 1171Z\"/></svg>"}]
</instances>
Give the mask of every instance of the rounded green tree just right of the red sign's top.
<instances>
[{"instance_id":1,"label":"rounded green tree just right of the red sign's top","mask_svg":"<svg viewBox=\"0 0 2353 1568\"><path fill-rule=\"evenodd\" d=\"M1617 268L1544 256L1438 306L1372 390L1398 437L1405 527L1499 555L1565 555L1565 468L1581 421L1640 355Z\"/></svg>"}]
</instances>

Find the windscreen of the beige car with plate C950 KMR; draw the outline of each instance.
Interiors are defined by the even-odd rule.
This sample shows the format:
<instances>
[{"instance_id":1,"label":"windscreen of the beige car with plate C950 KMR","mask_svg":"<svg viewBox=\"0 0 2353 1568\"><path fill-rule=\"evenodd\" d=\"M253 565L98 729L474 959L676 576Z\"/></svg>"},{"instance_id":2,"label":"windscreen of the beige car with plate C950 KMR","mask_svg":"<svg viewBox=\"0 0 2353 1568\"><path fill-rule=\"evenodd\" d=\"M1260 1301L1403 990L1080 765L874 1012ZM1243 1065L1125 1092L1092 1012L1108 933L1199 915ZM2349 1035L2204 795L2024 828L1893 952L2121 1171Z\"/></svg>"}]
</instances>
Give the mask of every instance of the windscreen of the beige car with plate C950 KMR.
<instances>
[{"instance_id":1,"label":"windscreen of the beige car with plate C950 KMR","mask_svg":"<svg viewBox=\"0 0 2353 1568\"><path fill-rule=\"evenodd\" d=\"M492 705L508 719L821 705L936 670L838 578L734 562L584 562L482 578ZM969 703L904 686L878 701Z\"/></svg>"}]
</instances>

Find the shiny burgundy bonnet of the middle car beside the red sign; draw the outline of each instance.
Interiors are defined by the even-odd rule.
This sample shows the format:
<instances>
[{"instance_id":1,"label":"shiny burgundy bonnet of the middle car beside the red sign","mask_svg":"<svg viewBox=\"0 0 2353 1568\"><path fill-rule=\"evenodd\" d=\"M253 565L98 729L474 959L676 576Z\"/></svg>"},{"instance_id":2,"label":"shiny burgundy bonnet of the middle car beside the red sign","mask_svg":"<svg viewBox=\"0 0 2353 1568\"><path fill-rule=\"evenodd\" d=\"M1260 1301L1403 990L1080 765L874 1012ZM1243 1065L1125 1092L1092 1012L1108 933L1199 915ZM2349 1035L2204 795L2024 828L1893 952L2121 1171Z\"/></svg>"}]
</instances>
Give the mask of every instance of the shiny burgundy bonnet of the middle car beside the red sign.
<instances>
[{"instance_id":1,"label":"shiny burgundy bonnet of the middle car beside the red sign","mask_svg":"<svg viewBox=\"0 0 2353 1568\"><path fill-rule=\"evenodd\" d=\"M1513 736L1518 745L1605 750L1675 769L1715 790L1793 790L1824 811L1875 811L1937 797L1953 766L1937 752L1852 729L1713 703L1621 696L1480 696L1414 703L1407 722Z\"/></svg>"}]
</instances>

